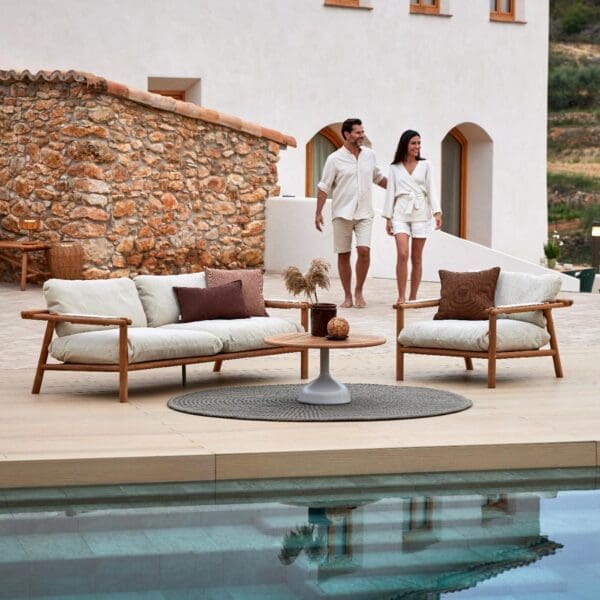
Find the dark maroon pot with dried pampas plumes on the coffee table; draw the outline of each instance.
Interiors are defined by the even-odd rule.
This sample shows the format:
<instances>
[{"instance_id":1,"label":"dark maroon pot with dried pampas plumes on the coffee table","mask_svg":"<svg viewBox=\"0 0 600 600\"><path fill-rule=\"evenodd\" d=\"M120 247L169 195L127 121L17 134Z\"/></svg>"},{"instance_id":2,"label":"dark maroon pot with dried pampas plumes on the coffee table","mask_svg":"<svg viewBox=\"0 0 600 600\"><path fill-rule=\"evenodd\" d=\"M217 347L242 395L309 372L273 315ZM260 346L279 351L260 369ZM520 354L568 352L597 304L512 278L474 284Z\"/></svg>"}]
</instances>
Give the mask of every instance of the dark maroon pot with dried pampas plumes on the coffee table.
<instances>
[{"instance_id":1,"label":"dark maroon pot with dried pampas plumes on the coffee table","mask_svg":"<svg viewBox=\"0 0 600 600\"><path fill-rule=\"evenodd\" d=\"M329 263L322 258L311 261L306 273L297 267L288 267L283 272L283 281L290 294L304 294L311 303L310 332L312 335L327 335L327 323L337 314L337 306L329 302L319 302L317 288L329 289Z\"/></svg>"}]
</instances>

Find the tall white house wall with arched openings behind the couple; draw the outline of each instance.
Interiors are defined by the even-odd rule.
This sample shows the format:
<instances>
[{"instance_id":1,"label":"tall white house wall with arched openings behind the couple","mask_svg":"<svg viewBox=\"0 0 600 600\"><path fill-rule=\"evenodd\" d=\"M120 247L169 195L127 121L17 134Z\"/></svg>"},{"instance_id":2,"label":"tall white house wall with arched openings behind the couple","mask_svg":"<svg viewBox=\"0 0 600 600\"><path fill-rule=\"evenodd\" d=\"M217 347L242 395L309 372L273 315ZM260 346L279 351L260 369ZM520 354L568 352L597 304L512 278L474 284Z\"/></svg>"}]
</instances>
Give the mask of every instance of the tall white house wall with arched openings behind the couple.
<instances>
[{"instance_id":1,"label":"tall white house wall with arched openings behind the couple","mask_svg":"<svg viewBox=\"0 0 600 600\"><path fill-rule=\"evenodd\" d=\"M519 0L526 24L489 21L488 0L446 0L449 18L322 0L2 0L0 68L79 69L146 89L202 81L202 103L294 135L282 193L304 194L305 144L360 116L380 164L420 131L438 170L441 141L471 122L493 141L487 199L494 248L532 261L546 237L548 0ZM477 216L477 219L480 217ZM473 224L473 226L475 226Z\"/></svg>"}]
</instances>

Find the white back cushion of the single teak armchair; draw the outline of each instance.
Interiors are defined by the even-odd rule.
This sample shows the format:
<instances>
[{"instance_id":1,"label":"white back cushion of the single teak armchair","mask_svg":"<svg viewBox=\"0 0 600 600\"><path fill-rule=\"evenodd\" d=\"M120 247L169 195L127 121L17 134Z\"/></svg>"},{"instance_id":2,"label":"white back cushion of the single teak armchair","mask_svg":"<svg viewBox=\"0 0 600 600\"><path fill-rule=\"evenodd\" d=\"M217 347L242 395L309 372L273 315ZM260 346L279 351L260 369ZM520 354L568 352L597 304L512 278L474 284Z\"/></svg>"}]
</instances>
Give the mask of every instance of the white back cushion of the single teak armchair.
<instances>
[{"instance_id":1,"label":"white back cushion of the single teak armchair","mask_svg":"<svg viewBox=\"0 0 600 600\"><path fill-rule=\"evenodd\" d=\"M496 306L535 304L554 300L559 291L560 277L558 275L530 275L529 273L500 271L494 304ZM533 323L538 327L546 325L544 315L540 310L501 316L516 321Z\"/></svg>"}]
</instances>

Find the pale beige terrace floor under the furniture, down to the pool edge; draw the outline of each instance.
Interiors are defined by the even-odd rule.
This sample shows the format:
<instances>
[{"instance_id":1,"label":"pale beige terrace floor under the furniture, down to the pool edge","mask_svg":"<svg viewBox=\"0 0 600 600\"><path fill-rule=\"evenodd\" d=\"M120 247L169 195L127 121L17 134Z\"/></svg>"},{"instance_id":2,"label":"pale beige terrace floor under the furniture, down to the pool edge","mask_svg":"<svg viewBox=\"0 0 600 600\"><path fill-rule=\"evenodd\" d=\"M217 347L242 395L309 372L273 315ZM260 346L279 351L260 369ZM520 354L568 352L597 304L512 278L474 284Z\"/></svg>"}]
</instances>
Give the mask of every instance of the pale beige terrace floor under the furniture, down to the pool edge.
<instances>
[{"instance_id":1,"label":"pale beige terrace floor under the furniture, down to the pool edge","mask_svg":"<svg viewBox=\"0 0 600 600\"><path fill-rule=\"evenodd\" d=\"M287 298L277 275L268 297ZM338 281L323 301L340 299ZM424 284L421 298L438 287ZM356 333L382 335L383 346L332 356L345 382L397 385L393 337L395 284L369 280L366 309L340 309ZM171 411L184 392L180 370L130 375L130 401L118 402L114 374L50 372L30 394L43 324L21 310L42 308L41 288L0 284L0 487L160 482L382 472L600 465L600 294L562 294L555 311L564 379L551 358L505 360L497 387L486 363L465 371L460 358L407 356L403 385L443 388L469 397L462 413L370 423L271 423L209 419ZM276 311L273 311L275 313ZM411 311L421 318L428 309ZM432 311L431 311L432 312ZM310 374L318 373L311 351ZM222 385L298 382L298 357L280 355L188 369L185 391Z\"/></svg>"}]
</instances>

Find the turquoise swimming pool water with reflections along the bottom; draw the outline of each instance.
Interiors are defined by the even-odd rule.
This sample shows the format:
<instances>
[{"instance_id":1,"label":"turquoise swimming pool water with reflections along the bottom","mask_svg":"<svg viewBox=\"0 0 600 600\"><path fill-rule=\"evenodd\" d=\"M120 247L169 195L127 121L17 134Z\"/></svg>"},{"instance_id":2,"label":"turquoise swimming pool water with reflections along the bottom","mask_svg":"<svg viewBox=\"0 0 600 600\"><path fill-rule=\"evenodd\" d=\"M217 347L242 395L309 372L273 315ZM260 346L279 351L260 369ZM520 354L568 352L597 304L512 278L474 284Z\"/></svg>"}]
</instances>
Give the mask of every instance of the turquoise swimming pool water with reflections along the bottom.
<instances>
[{"instance_id":1,"label":"turquoise swimming pool water with reflections along the bottom","mask_svg":"<svg viewBox=\"0 0 600 600\"><path fill-rule=\"evenodd\" d=\"M600 471L0 490L0 598L600 598Z\"/></svg>"}]
</instances>

